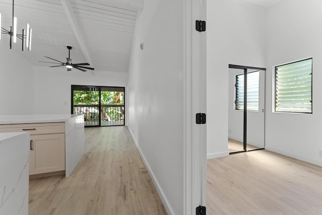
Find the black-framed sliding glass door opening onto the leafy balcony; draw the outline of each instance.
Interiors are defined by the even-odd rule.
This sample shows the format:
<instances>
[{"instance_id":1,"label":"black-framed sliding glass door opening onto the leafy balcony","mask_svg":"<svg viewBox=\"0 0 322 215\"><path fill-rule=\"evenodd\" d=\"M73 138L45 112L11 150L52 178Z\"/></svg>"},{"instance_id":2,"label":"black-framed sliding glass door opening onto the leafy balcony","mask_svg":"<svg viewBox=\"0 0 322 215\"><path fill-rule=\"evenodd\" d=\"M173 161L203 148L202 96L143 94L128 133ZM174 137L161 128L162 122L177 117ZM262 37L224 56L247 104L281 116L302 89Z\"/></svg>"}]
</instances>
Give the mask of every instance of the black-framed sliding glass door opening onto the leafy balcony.
<instances>
[{"instance_id":1,"label":"black-framed sliding glass door opening onto the leafy balcony","mask_svg":"<svg viewBox=\"0 0 322 215\"><path fill-rule=\"evenodd\" d=\"M125 88L71 85L71 114L86 127L125 125Z\"/></svg>"}]
</instances>

